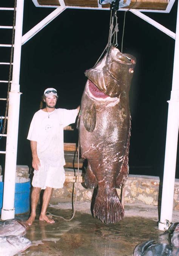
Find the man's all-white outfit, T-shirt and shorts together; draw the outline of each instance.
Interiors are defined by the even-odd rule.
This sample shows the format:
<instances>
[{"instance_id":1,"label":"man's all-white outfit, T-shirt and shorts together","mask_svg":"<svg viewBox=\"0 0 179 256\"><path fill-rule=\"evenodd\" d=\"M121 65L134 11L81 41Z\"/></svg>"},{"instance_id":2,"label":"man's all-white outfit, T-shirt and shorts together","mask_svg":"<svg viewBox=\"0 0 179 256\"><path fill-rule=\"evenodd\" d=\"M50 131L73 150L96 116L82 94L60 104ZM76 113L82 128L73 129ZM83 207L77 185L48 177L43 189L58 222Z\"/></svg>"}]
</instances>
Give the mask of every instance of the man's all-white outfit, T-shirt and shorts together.
<instances>
[{"instance_id":1,"label":"man's all-white outfit, T-shirt and shorts together","mask_svg":"<svg viewBox=\"0 0 179 256\"><path fill-rule=\"evenodd\" d=\"M63 127L76 120L78 110L57 108L47 113L39 110L32 118L28 140L37 141L39 170L34 170L33 187L62 188L65 182Z\"/></svg>"}]
</instances>

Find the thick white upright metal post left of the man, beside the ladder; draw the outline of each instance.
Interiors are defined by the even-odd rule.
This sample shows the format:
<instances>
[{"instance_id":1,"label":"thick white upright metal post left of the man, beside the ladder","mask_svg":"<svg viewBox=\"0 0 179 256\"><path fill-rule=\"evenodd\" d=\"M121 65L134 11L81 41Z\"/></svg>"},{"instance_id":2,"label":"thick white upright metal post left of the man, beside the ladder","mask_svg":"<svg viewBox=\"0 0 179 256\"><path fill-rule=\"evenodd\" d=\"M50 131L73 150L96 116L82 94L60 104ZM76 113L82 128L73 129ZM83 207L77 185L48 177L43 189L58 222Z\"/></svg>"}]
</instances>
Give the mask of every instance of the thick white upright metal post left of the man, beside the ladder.
<instances>
[{"instance_id":1,"label":"thick white upright metal post left of the man, beside the ladder","mask_svg":"<svg viewBox=\"0 0 179 256\"><path fill-rule=\"evenodd\" d=\"M15 174L17 162L17 139L19 128L19 106L20 106L20 57L22 45L24 0L17 0L14 38L14 58L11 91L9 93L8 127L6 141L5 178L3 193L2 220L9 220L15 216L14 194Z\"/></svg>"}]
</instances>

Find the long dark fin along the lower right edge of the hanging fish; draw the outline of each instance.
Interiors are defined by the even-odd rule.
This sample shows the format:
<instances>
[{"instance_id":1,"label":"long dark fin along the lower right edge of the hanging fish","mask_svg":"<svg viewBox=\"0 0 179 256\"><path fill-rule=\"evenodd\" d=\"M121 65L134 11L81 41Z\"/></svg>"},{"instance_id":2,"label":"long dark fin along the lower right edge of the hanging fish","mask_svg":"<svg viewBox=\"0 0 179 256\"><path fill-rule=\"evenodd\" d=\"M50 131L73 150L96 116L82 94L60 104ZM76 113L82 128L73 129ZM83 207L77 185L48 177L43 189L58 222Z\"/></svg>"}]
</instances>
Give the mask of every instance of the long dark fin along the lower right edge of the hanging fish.
<instances>
[{"instance_id":1,"label":"long dark fin along the lower right edge of the hanging fish","mask_svg":"<svg viewBox=\"0 0 179 256\"><path fill-rule=\"evenodd\" d=\"M130 136L131 136L131 120L129 123L129 130L128 130L128 138L127 138L127 144L126 144L126 149L125 149L125 155L123 158L123 163L121 165L119 174L116 179L116 188L123 188L125 185L125 182L127 181L127 177L129 174L129 146L130 146Z\"/></svg>"}]
</instances>

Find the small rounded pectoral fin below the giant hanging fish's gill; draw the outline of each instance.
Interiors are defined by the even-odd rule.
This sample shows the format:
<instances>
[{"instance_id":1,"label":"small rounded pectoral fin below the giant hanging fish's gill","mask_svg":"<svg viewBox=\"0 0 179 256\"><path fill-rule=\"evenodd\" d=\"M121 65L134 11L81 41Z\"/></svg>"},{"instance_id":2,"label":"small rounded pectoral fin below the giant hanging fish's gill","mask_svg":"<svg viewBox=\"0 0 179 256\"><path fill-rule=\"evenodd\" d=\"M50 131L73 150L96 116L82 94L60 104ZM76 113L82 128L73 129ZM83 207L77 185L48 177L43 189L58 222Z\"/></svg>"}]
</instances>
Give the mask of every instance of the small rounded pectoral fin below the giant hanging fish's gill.
<instances>
[{"instance_id":1,"label":"small rounded pectoral fin below the giant hanging fish's gill","mask_svg":"<svg viewBox=\"0 0 179 256\"><path fill-rule=\"evenodd\" d=\"M96 107L85 108L85 113L83 115L83 124L88 132L93 132L96 126Z\"/></svg>"}]
</instances>

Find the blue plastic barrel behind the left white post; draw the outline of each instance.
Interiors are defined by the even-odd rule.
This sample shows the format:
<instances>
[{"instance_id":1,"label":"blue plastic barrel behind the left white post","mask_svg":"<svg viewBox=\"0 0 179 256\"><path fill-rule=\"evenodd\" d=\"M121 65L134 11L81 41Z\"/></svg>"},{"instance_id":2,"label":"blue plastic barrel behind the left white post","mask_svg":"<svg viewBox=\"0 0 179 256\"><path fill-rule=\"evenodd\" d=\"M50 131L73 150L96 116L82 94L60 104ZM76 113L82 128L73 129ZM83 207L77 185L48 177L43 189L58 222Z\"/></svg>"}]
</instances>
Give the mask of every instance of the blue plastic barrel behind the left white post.
<instances>
[{"instance_id":1,"label":"blue plastic barrel behind the left white post","mask_svg":"<svg viewBox=\"0 0 179 256\"><path fill-rule=\"evenodd\" d=\"M3 185L4 182L0 182L0 213L3 203ZM30 210L30 187L30 181L15 183L15 214L22 214Z\"/></svg>"}]
</instances>

